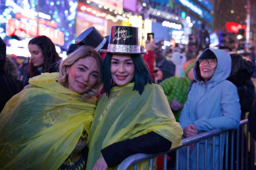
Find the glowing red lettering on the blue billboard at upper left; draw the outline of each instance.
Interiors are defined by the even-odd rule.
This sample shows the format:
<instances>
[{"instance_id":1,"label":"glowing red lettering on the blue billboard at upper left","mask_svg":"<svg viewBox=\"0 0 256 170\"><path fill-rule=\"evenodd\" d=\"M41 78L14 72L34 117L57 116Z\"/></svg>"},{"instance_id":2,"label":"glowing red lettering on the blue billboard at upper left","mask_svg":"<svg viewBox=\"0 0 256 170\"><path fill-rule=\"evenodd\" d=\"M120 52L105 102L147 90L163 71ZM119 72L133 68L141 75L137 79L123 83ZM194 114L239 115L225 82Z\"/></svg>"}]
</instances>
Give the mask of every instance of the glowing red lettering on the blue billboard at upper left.
<instances>
[{"instance_id":1,"label":"glowing red lettering on the blue billboard at upper left","mask_svg":"<svg viewBox=\"0 0 256 170\"><path fill-rule=\"evenodd\" d=\"M27 19L29 23L17 20L15 18ZM6 35L17 35L19 37L36 37L38 35L45 35L49 37L52 42L58 45L64 45L63 32L55 29L57 27L57 23L44 19L38 20L37 18L27 18L19 13L15 14L15 18L8 20L6 25ZM50 27L47 27L46 25Z\"/></svg>"}]
</instances>

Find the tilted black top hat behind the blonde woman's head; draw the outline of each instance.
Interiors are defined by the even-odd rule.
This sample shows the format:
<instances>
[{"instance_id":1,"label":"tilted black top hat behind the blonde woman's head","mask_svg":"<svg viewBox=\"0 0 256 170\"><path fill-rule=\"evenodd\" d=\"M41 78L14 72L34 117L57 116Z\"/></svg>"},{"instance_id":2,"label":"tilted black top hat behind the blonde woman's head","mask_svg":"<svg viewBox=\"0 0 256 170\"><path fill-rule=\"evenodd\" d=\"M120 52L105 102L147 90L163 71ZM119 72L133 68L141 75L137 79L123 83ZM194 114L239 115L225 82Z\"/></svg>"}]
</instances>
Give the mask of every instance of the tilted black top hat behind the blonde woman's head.
<instances>
[{"instance_id":1,"label":"tilted black top hat behind the blonde woman's head","mask_svg":"<svg viewBox=\"0 0 256 170\"><path fill-rule=\"evenodd\" d=\"M96 51L107 48L108 40L103 37L95 27L88 28L82 32L75 40L77 45L87 45L94 47Z\"/></svg>"}]
</instances>

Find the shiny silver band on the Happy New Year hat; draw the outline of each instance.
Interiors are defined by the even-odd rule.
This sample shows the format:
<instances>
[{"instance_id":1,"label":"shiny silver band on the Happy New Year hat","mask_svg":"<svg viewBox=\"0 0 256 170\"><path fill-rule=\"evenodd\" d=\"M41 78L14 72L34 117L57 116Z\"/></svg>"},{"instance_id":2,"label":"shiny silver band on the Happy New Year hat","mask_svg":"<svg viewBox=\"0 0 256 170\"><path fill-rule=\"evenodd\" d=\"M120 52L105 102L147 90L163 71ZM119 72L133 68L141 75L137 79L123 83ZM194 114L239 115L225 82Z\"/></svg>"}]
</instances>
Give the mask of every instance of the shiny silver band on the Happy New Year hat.
<instances>
[{"instance_id":1,"label":"shiny silver band on the Happy New Year hat","mask_svg":"<svg viewBox=\"0 0 256 170\"><path fill-rule=\"evenodd\" d=\"M139 45L108 44L108 52L140 53Z\"/></svg>"}]
</instances>

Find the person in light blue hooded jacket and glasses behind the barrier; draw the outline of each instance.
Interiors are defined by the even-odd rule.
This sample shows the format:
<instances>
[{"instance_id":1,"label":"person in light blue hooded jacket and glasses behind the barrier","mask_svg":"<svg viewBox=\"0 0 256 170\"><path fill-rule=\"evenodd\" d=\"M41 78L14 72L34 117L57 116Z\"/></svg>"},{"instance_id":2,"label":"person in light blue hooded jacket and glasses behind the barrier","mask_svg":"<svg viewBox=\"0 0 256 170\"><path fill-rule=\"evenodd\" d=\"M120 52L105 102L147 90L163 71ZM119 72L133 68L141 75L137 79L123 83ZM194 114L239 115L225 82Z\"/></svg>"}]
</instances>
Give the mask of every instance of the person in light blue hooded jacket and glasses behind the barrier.
<instances>
[{"instance_id":1,"label":"person in light blue hooded jacket and glasses behind the barrier","mask_svg":"<svg viewBox=\"0 0 256 170\"><path fill-rule=\"evenodd\" d=\"M195 82L179 117L184 137L216 128L227 130L238 128L241 110L236 86L226 80L231 71L231 58L220 49L205 49L194 67ZM222 138L224 148L225 136ZM215 138L215 170L219 163L219 138ZM199 143L199 169L204 169L205 143ZM186 168L186 148L180 150L179 169ZM190 145L189 169L196 169L196 145ZM207 169L212 168L212 140L207 141Z\"/></svg>"}]
</instances>

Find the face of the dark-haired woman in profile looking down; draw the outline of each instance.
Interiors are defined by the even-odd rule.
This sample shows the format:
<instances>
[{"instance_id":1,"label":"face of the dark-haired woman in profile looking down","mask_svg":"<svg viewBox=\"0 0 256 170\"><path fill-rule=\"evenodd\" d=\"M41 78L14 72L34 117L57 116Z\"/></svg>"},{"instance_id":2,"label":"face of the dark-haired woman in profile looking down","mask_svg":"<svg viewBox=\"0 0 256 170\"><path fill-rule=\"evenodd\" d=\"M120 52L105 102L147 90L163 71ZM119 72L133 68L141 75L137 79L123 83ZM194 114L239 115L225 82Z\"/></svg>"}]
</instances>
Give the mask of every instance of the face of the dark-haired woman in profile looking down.
<instances>
[{"instance_id":1,"label":"face of the dark-haired woman in profile looking down","mask_svg":"<svg viewBox=\"0 0 256 170\"><path fill-rule=\"evenodd\" d=\"M36 44L29 44L28 50L31 53L30 60L35 67L39 67L44 64L43 50Z\"/></svg>"}]
</instances>

